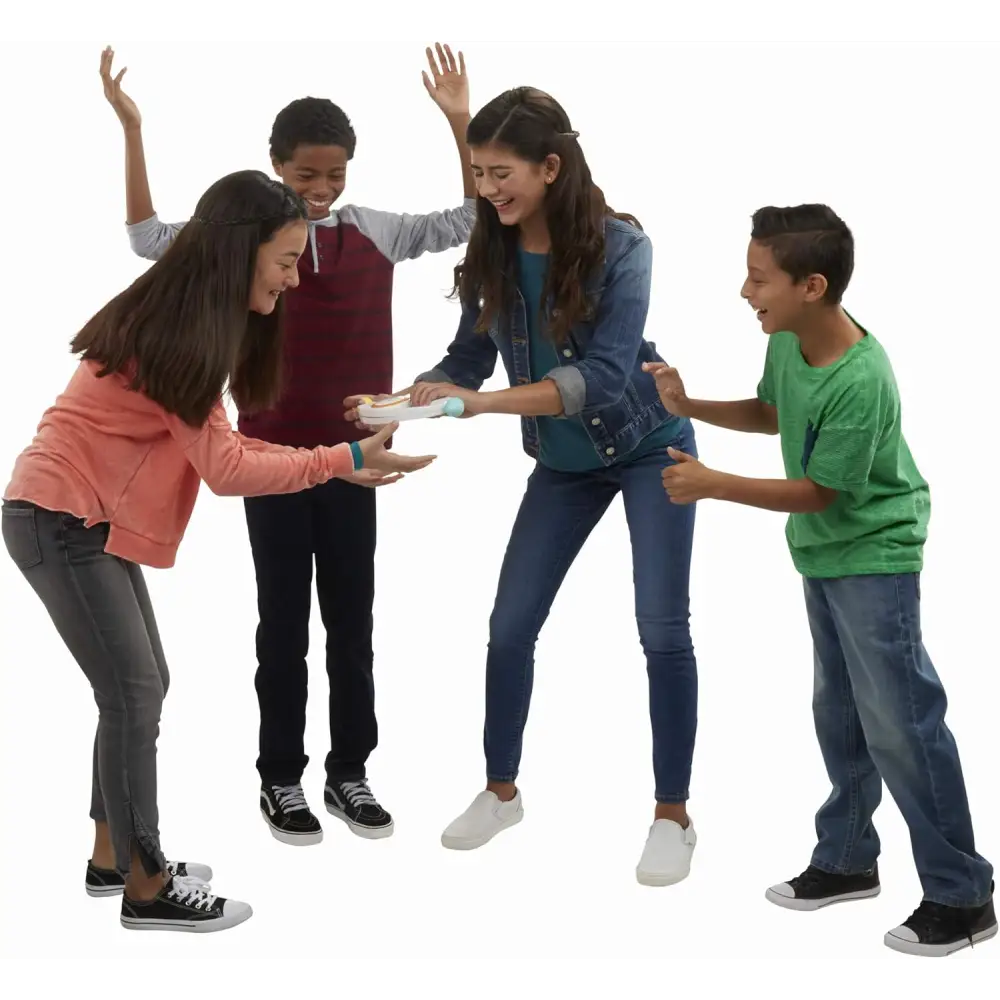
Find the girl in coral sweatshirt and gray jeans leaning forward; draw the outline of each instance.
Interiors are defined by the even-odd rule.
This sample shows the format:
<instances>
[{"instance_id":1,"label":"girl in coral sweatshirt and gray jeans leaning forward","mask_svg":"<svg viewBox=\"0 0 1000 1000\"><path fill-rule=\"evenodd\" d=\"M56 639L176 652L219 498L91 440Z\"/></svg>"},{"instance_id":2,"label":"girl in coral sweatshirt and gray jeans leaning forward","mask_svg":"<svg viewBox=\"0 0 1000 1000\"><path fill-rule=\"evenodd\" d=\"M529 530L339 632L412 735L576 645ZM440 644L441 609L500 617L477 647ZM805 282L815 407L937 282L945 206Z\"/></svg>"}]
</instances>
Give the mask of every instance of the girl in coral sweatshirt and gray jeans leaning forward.
<instances>
[{"instance_id":1,"label":"girl in coral sweatshirt and gray jeans leaning forward","mask_svg":"<svg viewBox=\"0 0 1000 1000\"><path fill-rule=\"evenodd\" d=\"M379 481L432 456L360 442L289 448L235 432L222 393L265 410L281 381L281 293L298 284L307 210L257 171L202 196L163 258L72 343L81 362L18 457L3 501L7 551L90 681L99 709L87 866L91 895L122 894L127 928L212 931L251 915L205 865L160 847L156 742L169 683L141 565L174 564L201 481L217 494Z\"/></svg>"}]
</instances>

